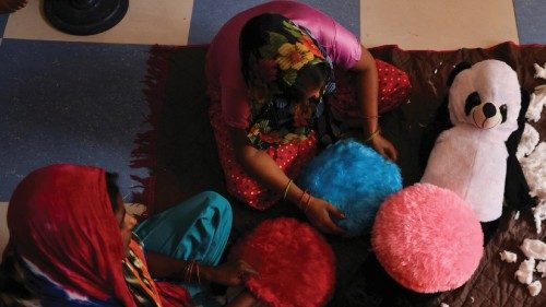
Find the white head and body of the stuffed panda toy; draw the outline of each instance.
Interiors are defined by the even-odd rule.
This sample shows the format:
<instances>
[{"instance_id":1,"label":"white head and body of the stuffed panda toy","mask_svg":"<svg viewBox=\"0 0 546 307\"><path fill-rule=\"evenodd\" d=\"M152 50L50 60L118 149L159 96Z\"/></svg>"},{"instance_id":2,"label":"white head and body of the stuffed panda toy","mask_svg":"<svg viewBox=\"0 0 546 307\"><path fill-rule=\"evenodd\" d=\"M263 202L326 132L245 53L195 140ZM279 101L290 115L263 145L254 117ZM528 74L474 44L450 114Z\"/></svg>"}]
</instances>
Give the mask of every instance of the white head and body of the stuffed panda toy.
<instances>
[{"instance_id":1,"label":"white head and body of the stuffed panda toy","mask_svg":"<svg viewBox=\"0 0 546 307\"><path fill-rule=\"evenodd\" d=\"M502 214L505 142L518 129L521 90L515 71L485 60L456 72L449 88L453 128L436 140L422 182L454 191L482 222Z\"/></svg>"}]
</instances>

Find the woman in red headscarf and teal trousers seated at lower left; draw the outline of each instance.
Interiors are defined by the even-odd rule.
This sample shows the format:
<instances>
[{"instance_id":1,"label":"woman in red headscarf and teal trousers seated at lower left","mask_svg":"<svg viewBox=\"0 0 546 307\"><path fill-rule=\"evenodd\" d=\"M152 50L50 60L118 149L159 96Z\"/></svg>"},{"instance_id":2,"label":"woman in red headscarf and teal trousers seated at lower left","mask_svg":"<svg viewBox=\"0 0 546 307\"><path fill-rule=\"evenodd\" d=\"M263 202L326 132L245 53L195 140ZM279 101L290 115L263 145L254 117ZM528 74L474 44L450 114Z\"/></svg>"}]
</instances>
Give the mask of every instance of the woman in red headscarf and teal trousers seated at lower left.
<instances>
[{"instance_id":1,"label":"woman in red headscarf and teal trousers seated at lower left","mask_svg":"<svg viewBox=\"0 0 546 307\"><path fill-rule=\"evenodd\" d=\"M34 295L41 306L191 306L182 284L211 281L240 285L248 274L256 273L242 261L205 265L153 251L144 256L132 232L136 221L126 213L111 179L102 168L58 164L34 170L17 186L8 208L7 253L11 260L4 253L2 267L10 262L14 264L11 272L20 280L24 276L27 298ZM225 232L228 234L230 227L229 204L217 193L204 192L175 206L171 213L186 208L201 212L198 216L206 216L203 220L228 220L224 226L213 227L219 235L197 237L200 244L209 244L206 252L219 259L228 236ZM207 222L193 223L203 226ZM152 234L150 225L143 226L144 240L178 238L173 255L187 240L178 229L192 228L171 227L171 234L159 237ZM195 240L194 234L191 239ZM14 288L4 278L2 283ZM10 302L5 293L0 303L21 306L16 299Z\"/></svg>"}]
</instances>

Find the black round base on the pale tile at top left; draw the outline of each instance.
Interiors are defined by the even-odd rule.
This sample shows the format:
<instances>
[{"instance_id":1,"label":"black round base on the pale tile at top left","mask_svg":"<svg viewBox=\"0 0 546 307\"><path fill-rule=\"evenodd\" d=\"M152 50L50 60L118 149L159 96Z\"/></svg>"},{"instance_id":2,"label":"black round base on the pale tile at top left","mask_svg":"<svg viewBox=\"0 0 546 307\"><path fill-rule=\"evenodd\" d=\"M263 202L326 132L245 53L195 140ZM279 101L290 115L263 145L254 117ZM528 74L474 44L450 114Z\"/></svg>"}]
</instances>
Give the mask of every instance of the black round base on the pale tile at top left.
<instances>
[{"instance_id":1,"label":"black round base on the pale tile at top left","mask_svg":"<svg viewBox=\"0 0 546 307\"><path fill-rule=\"evenodd\" d=\"M92 35L118 24L129 0L44 0L44 13L56 28L73 35Z\"/></svg>"}]
</instances>

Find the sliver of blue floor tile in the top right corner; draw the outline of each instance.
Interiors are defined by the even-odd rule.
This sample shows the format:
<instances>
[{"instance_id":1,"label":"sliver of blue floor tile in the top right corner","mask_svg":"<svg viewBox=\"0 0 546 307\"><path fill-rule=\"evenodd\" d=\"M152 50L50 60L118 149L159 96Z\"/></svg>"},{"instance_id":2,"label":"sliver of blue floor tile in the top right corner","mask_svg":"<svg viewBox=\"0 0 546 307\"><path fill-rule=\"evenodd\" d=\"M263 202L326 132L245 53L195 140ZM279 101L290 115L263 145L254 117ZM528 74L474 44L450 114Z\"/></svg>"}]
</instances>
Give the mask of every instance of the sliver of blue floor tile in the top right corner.
<instances>
[{"instance_id":1,"label":"sliver of blue floor tile in the top right corner","mask_svg":"<svg viewBox=\"0 0 546 307\"><path fill-rule=\"evenodd\" d=\"M546 44L544 0L513 0L520 44Z\"/></svg>"}]
</instances>

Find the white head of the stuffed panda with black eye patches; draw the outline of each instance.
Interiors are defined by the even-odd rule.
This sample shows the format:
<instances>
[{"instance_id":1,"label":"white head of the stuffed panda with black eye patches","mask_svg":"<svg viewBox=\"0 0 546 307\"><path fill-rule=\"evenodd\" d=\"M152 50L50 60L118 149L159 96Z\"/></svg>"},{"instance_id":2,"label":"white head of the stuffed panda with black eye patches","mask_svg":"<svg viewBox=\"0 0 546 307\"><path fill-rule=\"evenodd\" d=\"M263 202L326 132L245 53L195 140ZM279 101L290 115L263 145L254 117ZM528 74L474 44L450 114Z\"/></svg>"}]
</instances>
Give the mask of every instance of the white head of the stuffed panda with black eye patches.
<instances>
[{"instance_id":1,"label":"white head of the stuffed panda with black eye patches","mask_svg":"<svg viewBox=\"0 0 546 307\"><path fill-rule=\"evenodd\" d=\"M508 138L518 128L521 92L518 75L507 63L485 60L460 71L449 90L454 126L498 130Z\"/></svg>"}]
</instances>

